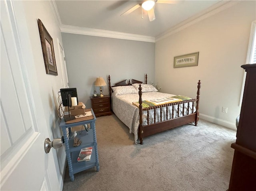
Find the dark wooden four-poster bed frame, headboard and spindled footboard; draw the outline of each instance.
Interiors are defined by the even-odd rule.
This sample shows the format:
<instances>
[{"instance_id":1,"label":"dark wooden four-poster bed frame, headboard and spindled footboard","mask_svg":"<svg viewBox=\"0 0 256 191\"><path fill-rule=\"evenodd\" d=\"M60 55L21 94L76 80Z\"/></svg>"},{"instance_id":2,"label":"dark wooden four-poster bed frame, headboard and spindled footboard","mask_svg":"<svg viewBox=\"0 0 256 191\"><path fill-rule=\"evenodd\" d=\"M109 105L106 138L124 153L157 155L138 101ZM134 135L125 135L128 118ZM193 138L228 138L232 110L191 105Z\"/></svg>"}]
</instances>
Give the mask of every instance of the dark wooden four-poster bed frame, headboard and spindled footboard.
<instances>
[{"instance_id":1,"label":"dark wooden four-poster bed frame, headboard and spindled footboard","mask_svg":"<svg viewBox=\"0 0 256 191\"><path fill-rule=\"evenodd\" d=\"M145 76L145 84L147 84L147 74ZM114 86L111 86L110 83L110 75L108 75L108 85L109 85L109 94L110 97L112 95L112 89L111 87L115 87L115 86L127 86L127 85L132 85L132 83L143 83L141 81L138 80L134 80L132 79L132 83L130 82L130 79L128 80L128 84L126 84L126 80L120 81L118 83L116 83ZM200 88L201 88L201 82L200 80L198 81L198 86L197 86L197 93L196 93L196 99L192 99L192 100L185 100L185 101L180 101L180 102L174 102L174 103L168 103L168 104L162 104L162 105L157 105L157 106L153 106L150 108L142 108L142 88L141 85L139 87L139 115L140 115L140 124L139 124L139 129L138 129L138 137L140 138L140 144L143 144L143 138L146 136L150 136L152 134L156 134L158 132L162 132L165 130L169 130L178 126L182 126L184 124L188 124L191 122L195 123L195 126L197 126L198 120L199 120L199 99L200 99ZM192 103L192 108L194 108L194 102L196 102L196 111L194 112L194 110L192 111L192 114L188 114L184 116L184 109L183 109L183 114L182 116L179 116L179 105L182 104L182 106L184 107L185 103ZM174 110L174 105L178 106L178 117L169 119L168 118L168 106L172 106L172 111ZM160 122L156 123L156 108L160 108ZM166 109L166 120L162 121L162 109ZM148 125L142 125L142 110L154 110L154 123L153 124L149 124ZM173 114L173 112L172 112ZM148 121L148 116L147 116L147 121Z\"/></svg>"}]
</instances>

